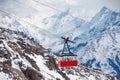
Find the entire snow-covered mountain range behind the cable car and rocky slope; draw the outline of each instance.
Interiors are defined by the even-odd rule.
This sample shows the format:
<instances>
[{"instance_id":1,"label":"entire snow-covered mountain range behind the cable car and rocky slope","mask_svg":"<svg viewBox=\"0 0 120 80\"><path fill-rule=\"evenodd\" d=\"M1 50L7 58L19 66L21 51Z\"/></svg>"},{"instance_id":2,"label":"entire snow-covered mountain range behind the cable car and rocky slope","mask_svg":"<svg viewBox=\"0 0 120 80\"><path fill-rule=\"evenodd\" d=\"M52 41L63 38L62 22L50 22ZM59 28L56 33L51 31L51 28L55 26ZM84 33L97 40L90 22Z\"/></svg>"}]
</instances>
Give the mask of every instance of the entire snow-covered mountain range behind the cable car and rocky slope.
<instances>
[{"instance_id":1,"label":"entire snow-covered mountain range behind the cable car and rocky slope","mask_svg":"<svg viewBox=\"0 0 120 80\"><path fill-rule=\"evenodd\" d=\"M55 52L62 50L60 37L69 36L75 42L71 49L78 55L79 63L120 76L120 13L104 7L90 22L86 22L69 15L68 9L43 19L40 26L45 29L13 16L1 14L0 26L22 31Z\"/></svg>"}]
</instances>

